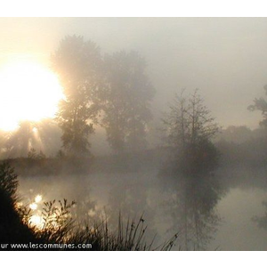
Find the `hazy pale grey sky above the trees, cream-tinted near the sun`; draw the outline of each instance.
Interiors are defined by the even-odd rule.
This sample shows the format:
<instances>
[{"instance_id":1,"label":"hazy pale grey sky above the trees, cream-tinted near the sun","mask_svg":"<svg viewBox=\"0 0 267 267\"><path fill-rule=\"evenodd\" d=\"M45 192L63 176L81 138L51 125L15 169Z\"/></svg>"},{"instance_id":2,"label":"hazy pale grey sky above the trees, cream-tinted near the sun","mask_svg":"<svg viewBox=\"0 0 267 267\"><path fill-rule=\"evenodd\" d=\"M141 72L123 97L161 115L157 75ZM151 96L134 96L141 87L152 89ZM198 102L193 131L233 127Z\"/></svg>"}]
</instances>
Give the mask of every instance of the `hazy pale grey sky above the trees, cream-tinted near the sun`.
<instances>
[{"instance_id":1,"label":"hazy pale grey sky above the trees, cream-tinted near the sun","mask_svg":"<svg viewBox=\"0 0 267 267\"><path fill-rule=\"evenodd\" d=\"M137 50L157 90L156 114L182 88L198 87L222 125L255 127L247 111L267 84L267 19L1 18L0 63L28 53L46 64L65 35L82 35L103 53Z\"/></svg>"}]
</instances>

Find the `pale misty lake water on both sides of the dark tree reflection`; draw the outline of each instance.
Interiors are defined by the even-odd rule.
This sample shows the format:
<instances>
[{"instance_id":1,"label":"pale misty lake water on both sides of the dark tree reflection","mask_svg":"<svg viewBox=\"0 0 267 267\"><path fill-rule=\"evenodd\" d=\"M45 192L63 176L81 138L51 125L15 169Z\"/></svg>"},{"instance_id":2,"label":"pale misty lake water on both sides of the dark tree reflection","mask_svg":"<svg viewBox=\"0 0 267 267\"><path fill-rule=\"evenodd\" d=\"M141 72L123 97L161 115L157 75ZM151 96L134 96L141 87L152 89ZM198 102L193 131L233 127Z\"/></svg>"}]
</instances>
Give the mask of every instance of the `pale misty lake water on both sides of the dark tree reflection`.
<instances>
[{"instance_id":1,"label":"pale misty lake water on both sides of the dark tree reflection","mask_svg":"<svg viewBox=\"0 0 267 267\"><path fill-rule=\"evenodd\" d=\"M249 176L249 172L245 172ZM248 179L248 178L246 178ZM248 179L249 180L249 179ZM230 186L218 204L220 217L207 250L267 250L267 231L253 221L266 212L267 200L264 178ZM20 196L32 201L41 194L44 201L68 198L77 201L78 215L86 218L100 215L105 210L110 223L117 223L119 211L125 217L139 217L144 213L149 239L157 234L158 243L175 233L174 211L169 202L172 194L162 190L157 171L130 174L90 174L20 178ZM175 207L174 207L175 209ZM177 241L179 243L179 239ZM179 247L174 247L178 249Z\"/></svg>"}]
</instances>

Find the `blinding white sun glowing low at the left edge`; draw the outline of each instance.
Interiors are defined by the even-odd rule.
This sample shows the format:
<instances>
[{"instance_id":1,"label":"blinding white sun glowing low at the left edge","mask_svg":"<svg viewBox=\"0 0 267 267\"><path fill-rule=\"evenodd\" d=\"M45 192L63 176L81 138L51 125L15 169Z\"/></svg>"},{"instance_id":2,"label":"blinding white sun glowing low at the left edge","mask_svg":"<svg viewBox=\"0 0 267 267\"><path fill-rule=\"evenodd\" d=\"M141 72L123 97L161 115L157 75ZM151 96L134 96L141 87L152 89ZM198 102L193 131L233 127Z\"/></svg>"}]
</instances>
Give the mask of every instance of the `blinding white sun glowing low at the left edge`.
<instances>
[{"instance_id":1,"label":"blinding white sun glowing low at the left edge","mask_svg":"<svg viewBox=\"0 0 267 267\"><path fill-rule=\"evenodd\" d=\"M11 61L0 69L0 129L54 117L63 93L58 77L37 61Z\"/></svg>"}]
</instances>

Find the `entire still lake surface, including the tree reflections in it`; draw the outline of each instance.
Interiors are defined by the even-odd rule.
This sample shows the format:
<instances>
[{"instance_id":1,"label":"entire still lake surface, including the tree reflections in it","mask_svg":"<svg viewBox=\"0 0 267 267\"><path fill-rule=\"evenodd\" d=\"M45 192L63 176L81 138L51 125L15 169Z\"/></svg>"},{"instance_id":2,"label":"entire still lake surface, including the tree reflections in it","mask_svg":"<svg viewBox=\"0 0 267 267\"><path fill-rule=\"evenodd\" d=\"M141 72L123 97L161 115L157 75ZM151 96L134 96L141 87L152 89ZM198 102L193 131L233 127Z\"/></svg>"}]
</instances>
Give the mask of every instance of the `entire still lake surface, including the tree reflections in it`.
<instances>
[{"instance_id":1,"label":"entire still lake surface, including the tree reflections in it","mask_svg":"<svg viewBox=\"0 0 267 267\"><path fill-rule=\"evenodd\" d=\"M265 176L245 177L244 172L182 179L157 179L157 172L133 174L95 174L91 176L53 176L26 179L20 177L20 195L31 199L42 193L43 198L76 200L75 211L94 217L104 207L109 222L117 225L119 210L127 217L138 218L144 212L153 239L157 233L159 243L181 231L174 249L214 250L266 250L267 231L258 228L253 216L263 217L263 199L267 199ZM235 175L233 175L235 174ZM247 171L247 174L250 174ZM243 186L241 181L246 179ZM227 191L223 190L226 186ZM235 181L235 182L230 182ZM258 182L256 182L258 181ZM187 187L185 185L187 184ZM200 190L201 189L201 190ZM91 205L88 205L88 200ZM90 202L89 201L89 202ZM27 201L26 201L27 202ZM42 202L42 201L41 201ZM31 203L31 202L29 202ZM187 209L185 209L185 204ZM185 213L187 212L187 213ZM186 228L187 227L187 228ZM187 230L187 231L185 231Z\"/></svg>"}]
</instances>

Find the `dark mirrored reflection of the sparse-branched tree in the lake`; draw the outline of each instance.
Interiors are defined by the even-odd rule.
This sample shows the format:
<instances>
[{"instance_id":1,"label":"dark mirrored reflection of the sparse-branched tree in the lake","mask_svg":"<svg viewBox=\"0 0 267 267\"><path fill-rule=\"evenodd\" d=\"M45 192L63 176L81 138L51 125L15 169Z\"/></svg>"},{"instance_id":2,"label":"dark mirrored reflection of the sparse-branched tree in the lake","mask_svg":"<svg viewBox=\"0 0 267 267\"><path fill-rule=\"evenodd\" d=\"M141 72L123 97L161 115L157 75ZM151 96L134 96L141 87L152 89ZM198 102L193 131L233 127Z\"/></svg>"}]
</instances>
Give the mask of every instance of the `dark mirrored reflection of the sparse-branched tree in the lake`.
<instances>
[{"instance_id":1,"label":"dark mirrored reflection of the sparse-branched tree in the lake","mask_svg":"<svg viewBox=\"0 0 267 267\"><path fill-rule=\"evenodd\" d=\"M218 181L214 176L193 177L178 181L169 192L167 204L180 245L186 250L205 249L220 222L215 210L222 193Z\"/></svg>"}]
</instances>

